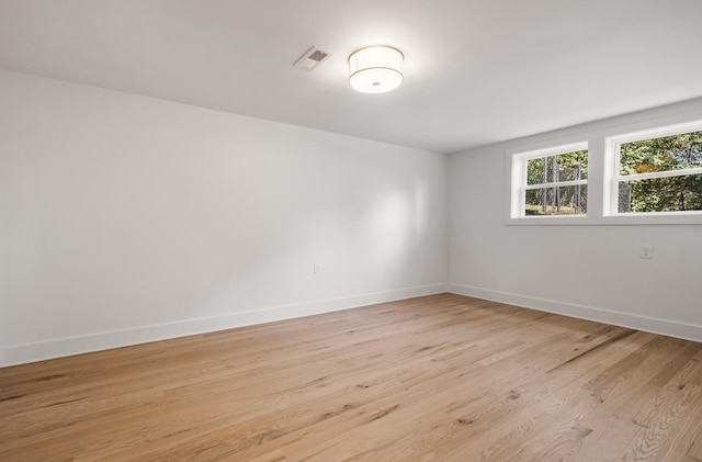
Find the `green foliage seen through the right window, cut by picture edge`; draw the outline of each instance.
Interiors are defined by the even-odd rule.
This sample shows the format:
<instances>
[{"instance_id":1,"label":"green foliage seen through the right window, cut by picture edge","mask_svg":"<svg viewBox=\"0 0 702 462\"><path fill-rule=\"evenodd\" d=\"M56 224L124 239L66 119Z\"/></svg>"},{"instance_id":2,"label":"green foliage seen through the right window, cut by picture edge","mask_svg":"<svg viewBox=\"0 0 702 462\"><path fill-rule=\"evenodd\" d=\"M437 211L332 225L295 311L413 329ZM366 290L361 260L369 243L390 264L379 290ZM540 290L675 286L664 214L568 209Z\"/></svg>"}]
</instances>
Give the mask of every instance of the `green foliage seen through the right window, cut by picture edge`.
<instances>
[{"instance_id":1,"label":"green foliage seen through the right window, cut by picture edge","mask_svg":"<svg viewBox=\"0 0 702 462\"><path fill-rule=\"evenodd\" d=\"M620 149L621 174L702 167L702 132L626 143ZM702 174L620 183L620 212L702 210Z\"/></svg>"}]
</instances>

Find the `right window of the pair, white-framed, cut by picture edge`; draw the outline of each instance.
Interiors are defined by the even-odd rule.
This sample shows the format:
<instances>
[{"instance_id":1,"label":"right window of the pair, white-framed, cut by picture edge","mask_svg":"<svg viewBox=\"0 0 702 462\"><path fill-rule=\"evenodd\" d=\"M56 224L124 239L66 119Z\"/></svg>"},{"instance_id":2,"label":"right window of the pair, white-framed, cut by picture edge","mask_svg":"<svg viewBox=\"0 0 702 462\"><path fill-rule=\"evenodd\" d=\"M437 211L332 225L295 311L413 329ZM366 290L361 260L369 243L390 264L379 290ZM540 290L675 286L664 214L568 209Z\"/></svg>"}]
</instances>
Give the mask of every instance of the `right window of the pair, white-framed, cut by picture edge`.
<instances>
[{"instance_id":1,"label":"right window of the pair, white-framed, cut by picture edge","mask_svg":"<svg viewBox=\"0 0 702 462\"><path fill-rule=\"evenodd\" d=\"M702 213L702 123L608 142L605 215Z\"/></svg>"}]
</instances>

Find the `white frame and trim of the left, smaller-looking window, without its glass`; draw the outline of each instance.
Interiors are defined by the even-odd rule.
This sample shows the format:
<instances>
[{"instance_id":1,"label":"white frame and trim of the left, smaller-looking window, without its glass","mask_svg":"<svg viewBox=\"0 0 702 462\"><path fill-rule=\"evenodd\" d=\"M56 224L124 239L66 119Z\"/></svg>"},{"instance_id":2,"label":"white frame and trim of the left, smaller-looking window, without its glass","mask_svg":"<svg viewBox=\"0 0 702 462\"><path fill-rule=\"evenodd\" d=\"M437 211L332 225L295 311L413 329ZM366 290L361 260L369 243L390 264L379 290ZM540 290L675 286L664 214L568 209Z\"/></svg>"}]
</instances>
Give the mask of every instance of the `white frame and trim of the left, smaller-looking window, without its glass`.
<instances>
[{"instance_id":1,"label":"white frame and trim of the left, smaller-looking window, without its glass","mask_svg":"<svg viewBox=\"0 0 702 462\"><path fill-rule=\"evenodd\" d=\"M509 164L511 166L510 174L510 209L507 216L507 222L512 224L564 224L573 223L573 221L584 219L587 215L536 215L528 216L524 213L525 209L525 191L532 189L558 188L568 185L582 185L588 184L590 178L589 161L588 161L588 179L575 180L575 181L557 181L543 184L526 184L526 165L531 159L537 159L540 157L557 156L559 154L575 153L578 150L588 150L588 142L576 142L562 144L558 146L548 146L533 150L516 150L509 153Z\"/></svg>"}]
</instances>

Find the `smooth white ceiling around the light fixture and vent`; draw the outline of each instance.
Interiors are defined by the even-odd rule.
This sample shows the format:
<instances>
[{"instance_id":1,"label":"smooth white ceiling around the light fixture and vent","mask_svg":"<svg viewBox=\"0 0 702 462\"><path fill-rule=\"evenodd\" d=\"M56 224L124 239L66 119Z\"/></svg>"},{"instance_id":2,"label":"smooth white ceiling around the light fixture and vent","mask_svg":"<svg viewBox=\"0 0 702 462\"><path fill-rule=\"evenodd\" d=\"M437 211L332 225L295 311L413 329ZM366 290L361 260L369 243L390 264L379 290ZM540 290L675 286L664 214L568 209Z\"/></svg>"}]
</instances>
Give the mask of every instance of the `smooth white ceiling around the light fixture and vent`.
<instances>
[{"instance_id":1,"label":"smooth white ceiling around the light fixture and vent","mask_svg":"<svg viewBox=\"0 0 702 462\"><path fill-rule=\"evenodd\" d=\"M440 153L701 97L701 44L700 0L0 0L0 68Z\"/></svg>"}]
</instances>

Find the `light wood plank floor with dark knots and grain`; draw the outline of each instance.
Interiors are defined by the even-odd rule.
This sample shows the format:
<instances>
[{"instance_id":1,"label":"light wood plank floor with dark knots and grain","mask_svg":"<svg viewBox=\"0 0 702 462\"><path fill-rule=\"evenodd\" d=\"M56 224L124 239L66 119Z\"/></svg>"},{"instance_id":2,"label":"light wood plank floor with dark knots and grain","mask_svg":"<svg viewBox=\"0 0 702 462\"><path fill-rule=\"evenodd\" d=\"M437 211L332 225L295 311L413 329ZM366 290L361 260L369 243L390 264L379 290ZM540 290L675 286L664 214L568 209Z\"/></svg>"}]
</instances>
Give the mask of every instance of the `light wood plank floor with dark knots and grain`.
<instances>
[{"instance_id":1,"label":"light wood plank floor with dark knots and grain","mask_svg":"<svg viewBox=\"0 0 702 462\"><path fill-rule=\"evenodd\" d=\"M442 294L0 369L1 461L702 461L702 343Z\"/></svg>"}]
</instances>

